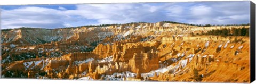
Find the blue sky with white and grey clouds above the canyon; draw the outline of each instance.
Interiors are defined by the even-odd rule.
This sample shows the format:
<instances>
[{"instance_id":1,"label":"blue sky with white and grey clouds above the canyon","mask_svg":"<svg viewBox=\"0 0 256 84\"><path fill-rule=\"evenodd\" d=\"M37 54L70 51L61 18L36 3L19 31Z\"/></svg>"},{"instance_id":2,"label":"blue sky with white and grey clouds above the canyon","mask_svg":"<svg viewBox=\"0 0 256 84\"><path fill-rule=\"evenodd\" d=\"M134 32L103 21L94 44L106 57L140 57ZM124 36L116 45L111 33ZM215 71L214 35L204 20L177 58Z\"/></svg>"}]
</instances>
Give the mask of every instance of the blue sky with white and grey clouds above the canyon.
<instances>
[{"instance_id":1,"label":"blue sky with white and grey clouds above the canyon","mask_svg":"<svg viewBox=\"0 0 256 84\"><path fill-rule=\"evenodd\" d=\"M189 24L250 22L250 1L3 5L0 10L1 29L55 29L160 21Z\"/></svg>"}]
</instances>

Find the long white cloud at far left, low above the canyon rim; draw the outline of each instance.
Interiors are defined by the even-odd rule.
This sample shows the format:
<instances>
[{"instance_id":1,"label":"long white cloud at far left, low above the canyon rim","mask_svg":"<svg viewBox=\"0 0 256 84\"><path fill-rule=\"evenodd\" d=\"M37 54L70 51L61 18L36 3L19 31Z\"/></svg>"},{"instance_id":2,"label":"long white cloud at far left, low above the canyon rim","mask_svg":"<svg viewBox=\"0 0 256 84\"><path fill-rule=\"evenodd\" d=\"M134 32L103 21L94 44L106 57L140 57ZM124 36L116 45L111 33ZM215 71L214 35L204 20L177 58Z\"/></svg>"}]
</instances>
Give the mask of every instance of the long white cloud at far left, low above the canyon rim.
<instances>
[{"instance_id":1,"label":"long white cloud at far left, low above the canyon rim","mask_svg":"<svg viewBox=\"0 0 256 84\"><path fill-rule=\"evenodd\" d=\"M43 7L20 7L1 11L1 28L58 28L65 27L63 20L67 19L67 16L59 10Z\"/></svg>"}]
</instances>

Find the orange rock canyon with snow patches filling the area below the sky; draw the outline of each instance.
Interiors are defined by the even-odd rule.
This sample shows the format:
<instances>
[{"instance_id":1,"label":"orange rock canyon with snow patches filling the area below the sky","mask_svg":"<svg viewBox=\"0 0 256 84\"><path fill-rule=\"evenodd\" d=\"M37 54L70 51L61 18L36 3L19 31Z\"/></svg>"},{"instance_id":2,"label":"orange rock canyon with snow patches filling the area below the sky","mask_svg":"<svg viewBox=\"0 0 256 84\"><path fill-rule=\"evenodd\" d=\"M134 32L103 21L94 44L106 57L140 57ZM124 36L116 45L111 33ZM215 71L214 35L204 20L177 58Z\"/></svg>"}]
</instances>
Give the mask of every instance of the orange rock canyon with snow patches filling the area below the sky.
<instances>
[{"instance_id":1,"label":"orange rock canyon with snow patches filling the area below the sky","mask_svg":"<svg viewBox=\"0 0 256 84\"><path fill-rule=\"evenodd\" d=\"M1 33L1 76L249 82L249 37L233 34L241 28L249 26L157 22L6 30ZM226 36L209 35L223 29L230 30Z\"/></svg>"}]
</instances>

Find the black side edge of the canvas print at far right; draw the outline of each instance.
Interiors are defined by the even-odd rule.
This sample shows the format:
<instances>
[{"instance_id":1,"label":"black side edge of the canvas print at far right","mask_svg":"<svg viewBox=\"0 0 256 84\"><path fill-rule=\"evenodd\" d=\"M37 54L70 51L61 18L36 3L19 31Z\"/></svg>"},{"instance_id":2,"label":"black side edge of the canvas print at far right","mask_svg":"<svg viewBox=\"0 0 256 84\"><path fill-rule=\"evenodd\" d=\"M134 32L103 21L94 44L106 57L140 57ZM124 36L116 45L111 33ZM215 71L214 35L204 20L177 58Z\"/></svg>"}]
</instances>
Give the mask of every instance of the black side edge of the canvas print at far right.
<instances>
[{"instance_id":1,"label":"black side edge of the canvas print at far right","mask_svg":"<svg viewBox=\"0 0 256 84\"><path fill-rule=\"evenodd\" d=\"M250 2L250 82L255 81L255 4Z\"/></svg>"}]
</instances>

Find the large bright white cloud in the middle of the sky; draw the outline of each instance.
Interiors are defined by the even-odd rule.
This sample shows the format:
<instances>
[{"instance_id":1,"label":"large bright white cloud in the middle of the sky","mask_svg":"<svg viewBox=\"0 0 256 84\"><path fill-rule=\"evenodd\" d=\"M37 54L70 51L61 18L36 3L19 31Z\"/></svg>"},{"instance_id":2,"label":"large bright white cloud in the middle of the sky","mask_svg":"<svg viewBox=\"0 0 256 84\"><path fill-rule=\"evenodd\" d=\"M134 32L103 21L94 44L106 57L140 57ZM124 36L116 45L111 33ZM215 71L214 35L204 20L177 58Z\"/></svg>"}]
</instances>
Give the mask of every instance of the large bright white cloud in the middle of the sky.
<instances>
[{"instance_id":1,"label":"large bright white cloud in the middle of the sky","mask_svg":"<svg viewBox=\"0 0 256 84\"><path fill-rule=\"evenodd\" d=\"M143 21L150 16L157 16L153 14L157 9L158 7L148 4L90 4L77 5L76 10L65 11L65 13L106 24Z\"/></svg>"}]
</instances>

